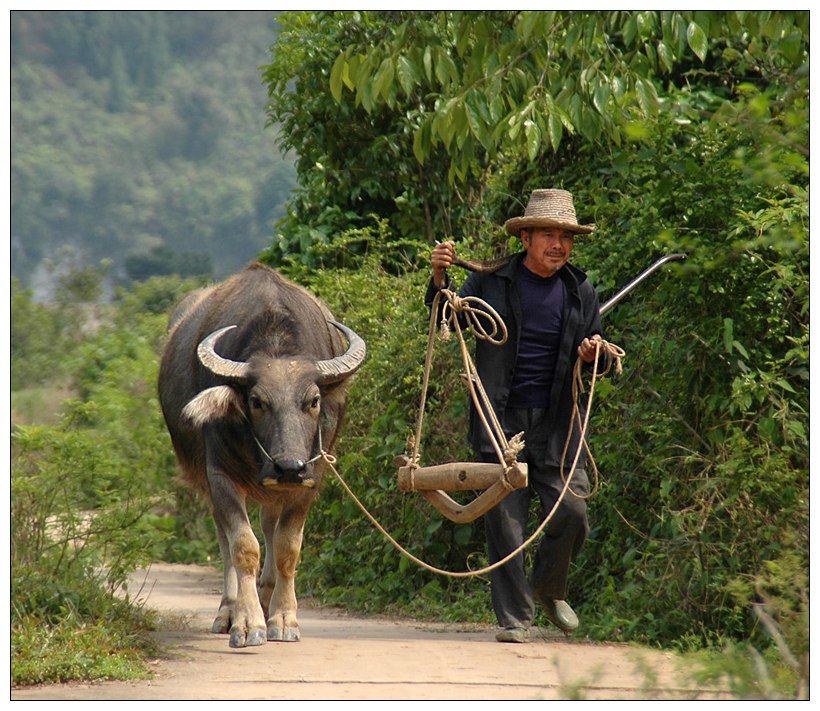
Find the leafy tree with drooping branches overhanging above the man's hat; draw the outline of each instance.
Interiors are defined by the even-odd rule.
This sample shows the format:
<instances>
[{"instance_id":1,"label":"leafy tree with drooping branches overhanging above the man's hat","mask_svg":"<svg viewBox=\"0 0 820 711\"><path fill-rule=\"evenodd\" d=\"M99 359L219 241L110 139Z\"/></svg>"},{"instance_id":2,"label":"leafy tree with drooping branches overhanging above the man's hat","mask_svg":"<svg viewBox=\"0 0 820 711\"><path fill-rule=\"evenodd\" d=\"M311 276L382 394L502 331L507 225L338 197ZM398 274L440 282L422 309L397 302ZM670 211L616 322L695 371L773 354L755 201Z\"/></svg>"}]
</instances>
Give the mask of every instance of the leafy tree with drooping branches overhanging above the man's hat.
<instances>
[{"instance_id":1,"label":"leafy tree with drooping branches overhanging above the man's hat","mask_svg":"<svg viewBox=\"0 0 820 711\"><path fill-rule=\"evenodd\" d=\"M493 225L521 199L499 172L622 145L659 112L731 113L724 102L744 86L808 76L805 12L294 12L282 23L264 78L300 189L274 260L370 213L404 237L497 244Z\"/></svg>"}]
</instances>

